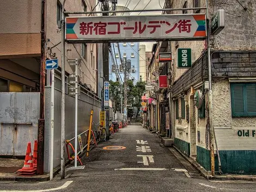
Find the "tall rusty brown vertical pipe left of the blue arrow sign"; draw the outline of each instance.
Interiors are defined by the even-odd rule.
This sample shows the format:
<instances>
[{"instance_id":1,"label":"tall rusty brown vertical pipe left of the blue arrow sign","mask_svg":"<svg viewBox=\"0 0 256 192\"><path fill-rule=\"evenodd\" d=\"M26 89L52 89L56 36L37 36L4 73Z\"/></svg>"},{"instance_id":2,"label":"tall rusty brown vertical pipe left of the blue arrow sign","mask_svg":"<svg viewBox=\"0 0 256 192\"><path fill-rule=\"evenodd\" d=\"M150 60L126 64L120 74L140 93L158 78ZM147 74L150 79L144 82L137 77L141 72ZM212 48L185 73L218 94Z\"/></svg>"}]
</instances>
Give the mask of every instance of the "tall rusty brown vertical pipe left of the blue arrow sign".
<instances>
[{"instance_id":1,"label":"tall rusty brown vertical pipe left of the blue arrow sign","mask_svg":"<svg viewBox=\"0 0 256 192\"><path fill-rule=\"evenodd\" d=\"M41 0L40 116L38 120L37 173L44 174L45 140L45 0Z\"/></svg>"}]
</instances>

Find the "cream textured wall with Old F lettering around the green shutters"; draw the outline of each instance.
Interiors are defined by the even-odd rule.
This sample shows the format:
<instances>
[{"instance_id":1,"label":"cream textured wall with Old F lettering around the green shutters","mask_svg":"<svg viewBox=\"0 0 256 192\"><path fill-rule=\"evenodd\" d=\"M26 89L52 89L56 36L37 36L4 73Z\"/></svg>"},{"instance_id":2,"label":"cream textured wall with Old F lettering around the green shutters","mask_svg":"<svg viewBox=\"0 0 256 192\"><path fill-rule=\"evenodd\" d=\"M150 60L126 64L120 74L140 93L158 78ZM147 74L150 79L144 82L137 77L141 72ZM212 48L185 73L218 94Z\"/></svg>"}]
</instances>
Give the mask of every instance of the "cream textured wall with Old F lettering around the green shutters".
<instances>
[{"instance_id":1,"label":"cream textured wall with Old F lettering around the green shutters","mask_svg":"<svg viewBox=\"0 0 256 192\"><path fill-rule=\"evenodd\" d=\"M220 150L255 150L256 140L252 130L256 129L256 117L231 117L231 93L228 80L212 85L213 117L216 139ZM237 131L249 130L249 137L239 137Z\"/></svg>"}]
</instances>

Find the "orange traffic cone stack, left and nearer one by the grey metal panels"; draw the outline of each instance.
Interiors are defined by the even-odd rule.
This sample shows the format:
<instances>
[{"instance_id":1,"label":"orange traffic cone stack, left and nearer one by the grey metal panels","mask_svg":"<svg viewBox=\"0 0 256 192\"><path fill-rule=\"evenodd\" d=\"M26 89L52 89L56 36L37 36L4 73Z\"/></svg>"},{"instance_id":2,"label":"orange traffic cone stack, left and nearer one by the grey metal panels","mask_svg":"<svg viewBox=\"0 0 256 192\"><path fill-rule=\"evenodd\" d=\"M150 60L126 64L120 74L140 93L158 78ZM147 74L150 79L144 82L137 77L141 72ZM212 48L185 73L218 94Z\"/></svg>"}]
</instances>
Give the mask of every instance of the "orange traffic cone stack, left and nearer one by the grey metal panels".
<instances>
[{"instance_id":1,"label":"orange traffic cone stack, left and nearer one by the grey metal panels","mask_svg":"<svg viewBox=\"0 0 256 192\"><path fill-rule=\"evenodd\" d=\"M34 175L36 173L36 169L33 168L33 160L31 153L31 143L28 142L26 157L24 161L23 168L17 170L19 175Z\"/></svg>"}]
</instances>

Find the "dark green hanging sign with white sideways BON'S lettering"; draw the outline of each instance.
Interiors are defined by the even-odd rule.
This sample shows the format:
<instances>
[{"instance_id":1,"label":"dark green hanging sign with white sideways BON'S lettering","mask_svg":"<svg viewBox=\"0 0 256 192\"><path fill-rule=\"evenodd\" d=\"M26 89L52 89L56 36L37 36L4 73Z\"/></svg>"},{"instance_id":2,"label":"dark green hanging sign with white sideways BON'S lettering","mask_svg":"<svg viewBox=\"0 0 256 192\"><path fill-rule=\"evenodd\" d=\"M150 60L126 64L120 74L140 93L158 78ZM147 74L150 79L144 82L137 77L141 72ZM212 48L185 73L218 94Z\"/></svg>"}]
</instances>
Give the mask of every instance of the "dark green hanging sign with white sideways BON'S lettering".
<instances>
[{"instance_id":1,"label":"dark green hanging sign with white sideways BON'S lettering","mask_svg":"<svg viewBox=\"0 0 256 192\"><path fill-rule=\"evenodd\" d=\"M177 55L178 68L190 68L192 66L191 48L178 48Z\"/></svg>"}]
</instances>

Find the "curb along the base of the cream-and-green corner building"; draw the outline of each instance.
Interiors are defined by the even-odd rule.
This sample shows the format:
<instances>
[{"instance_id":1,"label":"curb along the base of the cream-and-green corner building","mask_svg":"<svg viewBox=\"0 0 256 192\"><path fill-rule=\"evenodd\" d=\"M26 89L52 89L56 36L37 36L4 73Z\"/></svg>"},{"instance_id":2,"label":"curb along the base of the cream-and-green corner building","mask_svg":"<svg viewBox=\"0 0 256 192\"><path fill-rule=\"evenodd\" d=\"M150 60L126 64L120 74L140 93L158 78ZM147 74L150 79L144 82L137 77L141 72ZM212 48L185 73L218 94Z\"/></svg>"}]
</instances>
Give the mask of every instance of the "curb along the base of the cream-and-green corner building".
<instances>
[{"instance_id":1,"label":"curb along the base of the cream-and-green corner building","mask_svg":"<svg viewBox=\"0 0 256 192\"><path fill-rule=\"evenodd\" d=\"M182 153L176 146L173 145L173 148L181 154L194 168L196 168L200 174L208 180L236 180L236 181L256 181L256 176L254 175L215 175L211 176L208 171L206 171L201 165L199 165L195 160L190 157L187 157Z\"/></svg>"}]
</instances>

